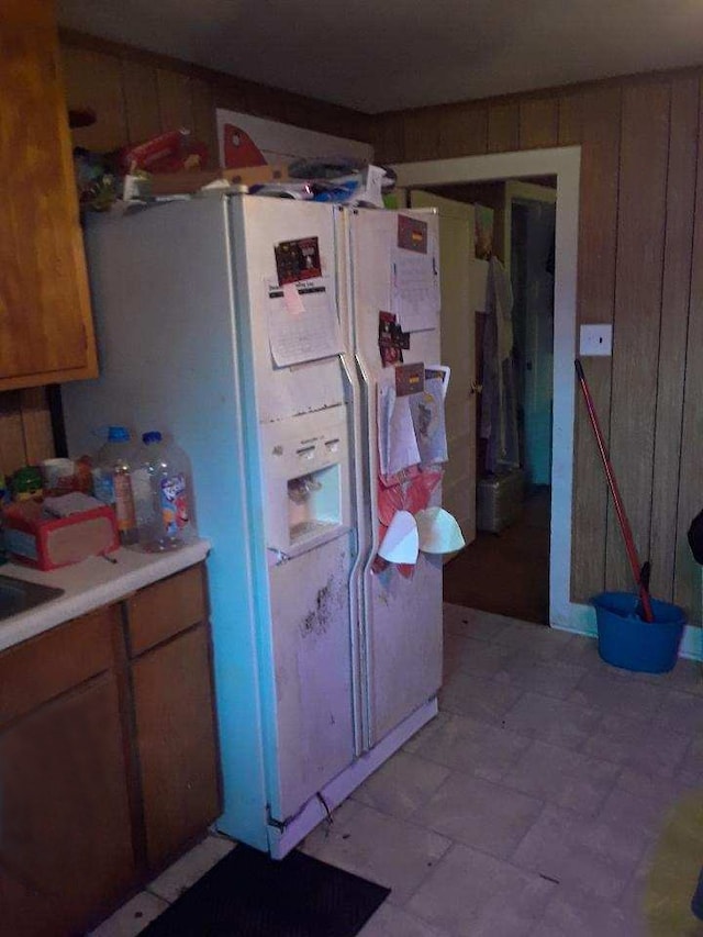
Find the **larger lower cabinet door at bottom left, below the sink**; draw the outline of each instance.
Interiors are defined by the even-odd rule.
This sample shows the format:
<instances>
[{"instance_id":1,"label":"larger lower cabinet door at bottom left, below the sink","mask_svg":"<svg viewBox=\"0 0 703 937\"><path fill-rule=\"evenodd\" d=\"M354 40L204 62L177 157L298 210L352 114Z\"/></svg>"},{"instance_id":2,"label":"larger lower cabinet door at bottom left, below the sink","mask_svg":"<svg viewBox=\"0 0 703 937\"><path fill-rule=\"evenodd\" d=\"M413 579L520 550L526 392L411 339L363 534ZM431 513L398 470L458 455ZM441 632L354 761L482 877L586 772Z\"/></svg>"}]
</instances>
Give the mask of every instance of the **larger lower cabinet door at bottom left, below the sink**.
<instances>
[{"instance_id":1,"label":"larger lower cabinet door at bottom left, below the sink","mask_svg":"<svg viewBox=\"0 0 703 937\"><path fill-rule=\"evenodd\" d=\"M0 930L82 933L134 875L118 688L103 674L0 734Z\"/></svg>"}]
</instances>

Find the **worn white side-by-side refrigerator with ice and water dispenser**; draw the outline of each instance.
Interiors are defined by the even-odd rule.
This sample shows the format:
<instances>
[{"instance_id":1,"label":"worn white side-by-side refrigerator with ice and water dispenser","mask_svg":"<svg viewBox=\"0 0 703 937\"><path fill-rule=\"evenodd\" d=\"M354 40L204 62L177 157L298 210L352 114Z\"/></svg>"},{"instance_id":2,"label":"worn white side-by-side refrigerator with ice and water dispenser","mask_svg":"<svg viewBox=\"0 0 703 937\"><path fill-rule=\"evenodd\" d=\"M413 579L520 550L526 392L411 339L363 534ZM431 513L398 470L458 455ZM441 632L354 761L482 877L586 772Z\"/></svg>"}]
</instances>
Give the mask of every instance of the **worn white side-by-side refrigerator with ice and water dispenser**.
<instances>
[{"instance_id":1,"label":"worn white side-by-side refrigerator with ice and water dispenser","mask_svg":"<svg viewBox=\"0 0 703 937\"><path fill-rule=\"evenodd\" d=\"M403 214L423 219L437 270L435 216ZM375 564L398 231L395 212L248 196L86 230L100 378L63 389L69 453L119 423L189 454L212 544L217 827L275 857L437 709L440 562ZM439 364L438 325L402 354Z\"/></svg>"}]
</instances>

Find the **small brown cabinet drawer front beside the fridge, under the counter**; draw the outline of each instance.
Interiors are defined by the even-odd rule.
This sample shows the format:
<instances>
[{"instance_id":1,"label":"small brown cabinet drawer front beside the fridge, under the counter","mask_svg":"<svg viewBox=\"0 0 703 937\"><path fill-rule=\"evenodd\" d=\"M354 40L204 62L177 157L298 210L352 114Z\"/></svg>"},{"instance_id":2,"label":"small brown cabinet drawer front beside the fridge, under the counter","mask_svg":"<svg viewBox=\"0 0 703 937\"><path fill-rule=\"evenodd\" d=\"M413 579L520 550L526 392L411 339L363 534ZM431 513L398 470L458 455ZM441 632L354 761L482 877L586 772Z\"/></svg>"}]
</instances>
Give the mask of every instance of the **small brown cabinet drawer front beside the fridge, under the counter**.
<instances>
[{"instance_id":1,"label":"small brown cabinet drawer front beside the fridge, under the counter","mask_svg":"<svg viewBox=\"0 0 703 937\"><path fill-rule=\"evenodd\" d=\"M193 566L127 600L130 654L136 657L208 616L204 567Z\"/></svg>"}]
</instances>

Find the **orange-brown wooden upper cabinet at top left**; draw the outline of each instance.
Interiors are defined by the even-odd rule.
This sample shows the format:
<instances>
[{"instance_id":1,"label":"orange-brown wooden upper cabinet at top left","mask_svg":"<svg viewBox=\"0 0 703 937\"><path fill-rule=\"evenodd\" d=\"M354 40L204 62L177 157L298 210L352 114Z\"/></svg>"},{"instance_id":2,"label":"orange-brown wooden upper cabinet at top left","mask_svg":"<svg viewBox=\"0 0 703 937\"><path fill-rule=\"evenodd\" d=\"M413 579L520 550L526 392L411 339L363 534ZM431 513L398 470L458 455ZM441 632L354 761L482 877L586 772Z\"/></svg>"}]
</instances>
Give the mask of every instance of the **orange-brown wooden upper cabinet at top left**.
<instances>
[{"instance_id":1,"label":"orange-brown wooden upper cabinet at top left","mask_svg":"<svg viewBox=\"0 0 703 937\"><path fill-rule=\"evenodd\" d=\"M0 391L94 377L52 0L0 15Z\"/></svg>"}]
</instances>

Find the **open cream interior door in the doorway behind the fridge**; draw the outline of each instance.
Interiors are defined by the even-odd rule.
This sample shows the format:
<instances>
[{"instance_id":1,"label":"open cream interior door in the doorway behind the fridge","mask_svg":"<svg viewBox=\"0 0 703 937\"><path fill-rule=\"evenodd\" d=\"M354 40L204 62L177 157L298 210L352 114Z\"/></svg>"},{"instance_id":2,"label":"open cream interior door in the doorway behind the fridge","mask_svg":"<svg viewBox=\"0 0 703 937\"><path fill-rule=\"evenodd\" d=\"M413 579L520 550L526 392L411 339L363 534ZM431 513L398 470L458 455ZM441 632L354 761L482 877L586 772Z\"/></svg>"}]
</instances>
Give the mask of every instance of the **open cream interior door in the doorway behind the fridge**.
<instances>
[{"instance_id":1,"label":"open cream interior door in the doorway behind the fridge","mask_svg":"<svg viewBox=\"0 0 703 937\"><path fill-rule=\"evenodd\" d=\"M442 497L470 544L476 539L473 207L431 192L412 191L410 196L413 208L436 208L439 213L442 361L451 368L445 411L449 461Z\"/></svg>"}]
</instances>

